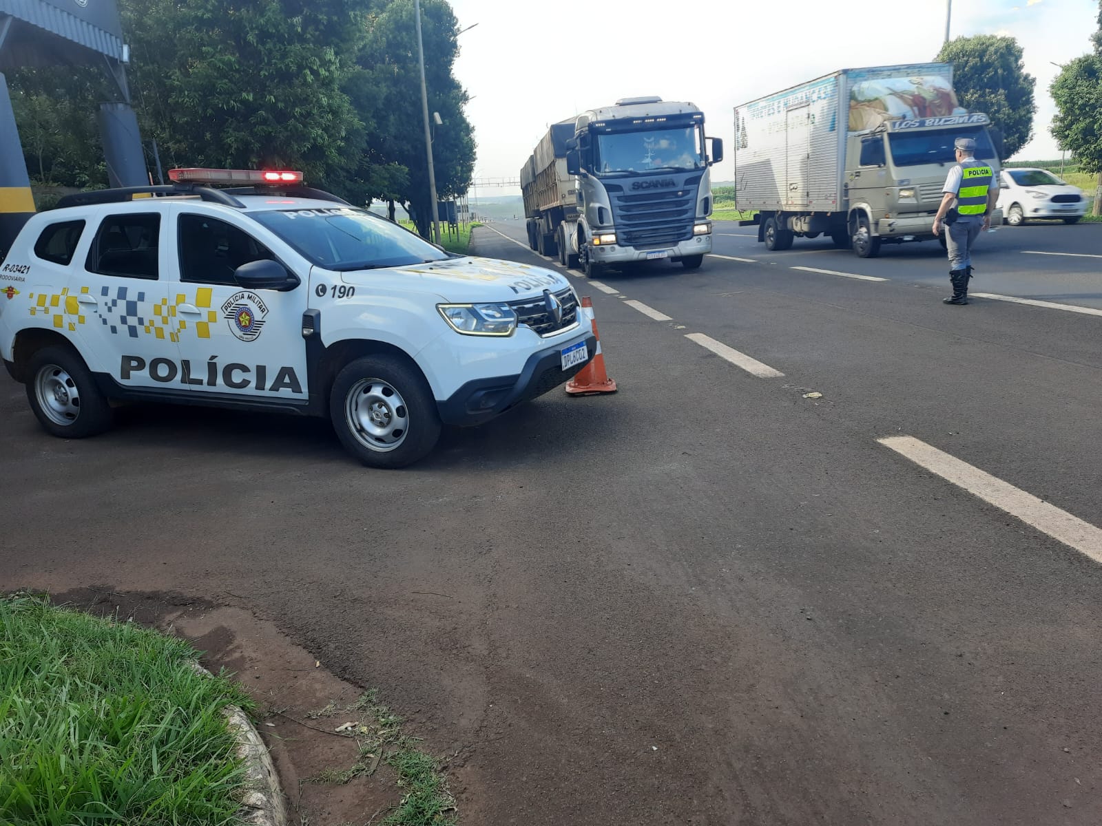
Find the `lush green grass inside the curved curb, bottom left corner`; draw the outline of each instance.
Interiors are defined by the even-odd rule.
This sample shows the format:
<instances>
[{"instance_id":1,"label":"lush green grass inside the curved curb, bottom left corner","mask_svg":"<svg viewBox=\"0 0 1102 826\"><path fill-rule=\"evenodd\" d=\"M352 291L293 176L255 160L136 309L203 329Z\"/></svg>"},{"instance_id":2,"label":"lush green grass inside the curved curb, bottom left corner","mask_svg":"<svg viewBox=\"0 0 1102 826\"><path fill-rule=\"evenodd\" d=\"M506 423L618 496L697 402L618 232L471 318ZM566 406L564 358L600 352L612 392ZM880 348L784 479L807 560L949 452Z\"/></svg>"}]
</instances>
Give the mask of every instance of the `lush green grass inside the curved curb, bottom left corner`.
<instances>
[{"instance_id":1,"label":"lush green grass inside the curved curb, bottom left corner","mask_svg":"<svg viewBox=\"0 0 1102 826\"><path fill-rule=\"evenodd\" d=\"M0 598L0 823L236 824L234 683L183 640Z\"/></svg>"}]
</instances>

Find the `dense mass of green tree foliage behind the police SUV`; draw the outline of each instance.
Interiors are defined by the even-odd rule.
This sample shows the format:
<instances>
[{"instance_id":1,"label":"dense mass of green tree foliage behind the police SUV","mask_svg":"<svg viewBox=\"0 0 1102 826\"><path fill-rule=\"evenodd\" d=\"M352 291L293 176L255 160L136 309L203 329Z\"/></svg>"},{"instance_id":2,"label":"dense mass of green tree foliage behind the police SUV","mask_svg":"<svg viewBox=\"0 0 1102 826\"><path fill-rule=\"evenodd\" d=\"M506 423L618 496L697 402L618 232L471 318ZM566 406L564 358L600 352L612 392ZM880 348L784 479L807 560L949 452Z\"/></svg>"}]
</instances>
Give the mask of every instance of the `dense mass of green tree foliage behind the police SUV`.
<instances>
[{"instance_id":1,"label":"dense mass of green tree foliage behind the police SUV","mask_svg":"<svg viewBox=\"0 0 1102 826\"><path fill-rule=\"evenodd\" d=\"M142 137L162 165L301 169L353 203L431 216L412 0L120 0ZM452 74L456 21L422 6L441 197L464 192L474 139ZM24 69L12 102L31 175L104 185L94 67Z\"/></svg>"}]
</instances>

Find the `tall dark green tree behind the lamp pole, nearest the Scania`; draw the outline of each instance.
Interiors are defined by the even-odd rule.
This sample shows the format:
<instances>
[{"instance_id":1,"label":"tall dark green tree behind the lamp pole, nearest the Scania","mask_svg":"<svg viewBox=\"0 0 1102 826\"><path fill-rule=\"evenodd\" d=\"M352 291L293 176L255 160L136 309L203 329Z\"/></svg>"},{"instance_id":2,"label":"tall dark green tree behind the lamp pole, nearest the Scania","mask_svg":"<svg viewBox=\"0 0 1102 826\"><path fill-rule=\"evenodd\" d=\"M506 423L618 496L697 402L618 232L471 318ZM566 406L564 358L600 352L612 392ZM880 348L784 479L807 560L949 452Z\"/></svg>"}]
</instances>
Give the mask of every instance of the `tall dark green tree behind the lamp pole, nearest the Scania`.
<instances>
[{"instance_id":1,"label":"tall dark green tree behind the lamp pole, nearest the Scania","mask_svg":"<svg viewBox=\"0 0 1102 826\"><path fill-rule=\"evenodd\" d=\"M463 112L467 94L452 74L458 54L455 14L445 0L424 0L421 14L429 111L440 112L443 121L432 127L436 193L447 199L471 185L475 141ZM428 237L432 204L412 0L391 0L368 18L358 63L364 72L361 83L378 95L375 127L367 140L367 163L378 165L385 161L408 171L404 182L385 178L393 188L389 194L379 191L376 196L401 203L418 231Z\"/></svg>"}]
</instances>

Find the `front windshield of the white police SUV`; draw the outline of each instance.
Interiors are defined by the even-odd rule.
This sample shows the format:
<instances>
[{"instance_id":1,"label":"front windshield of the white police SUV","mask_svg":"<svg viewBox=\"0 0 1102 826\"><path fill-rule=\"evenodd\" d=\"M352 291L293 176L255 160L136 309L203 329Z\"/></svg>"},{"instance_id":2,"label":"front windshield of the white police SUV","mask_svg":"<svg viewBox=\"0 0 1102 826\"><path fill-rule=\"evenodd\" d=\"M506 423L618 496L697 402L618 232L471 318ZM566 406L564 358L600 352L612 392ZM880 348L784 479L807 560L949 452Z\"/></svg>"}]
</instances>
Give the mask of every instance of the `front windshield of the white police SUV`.
<instances>
[{"instance_id":1,"label":"front windshield of the white police SUV","mask_svg":"<svg viewBox=\"0 0 1102 826\"><path fill-rule=\"evenodd\" d=\"M353 207L272 209L251 217L311 263L328 270L371 270L449 258L398 225Z\"/></svg>"}]
</instances>

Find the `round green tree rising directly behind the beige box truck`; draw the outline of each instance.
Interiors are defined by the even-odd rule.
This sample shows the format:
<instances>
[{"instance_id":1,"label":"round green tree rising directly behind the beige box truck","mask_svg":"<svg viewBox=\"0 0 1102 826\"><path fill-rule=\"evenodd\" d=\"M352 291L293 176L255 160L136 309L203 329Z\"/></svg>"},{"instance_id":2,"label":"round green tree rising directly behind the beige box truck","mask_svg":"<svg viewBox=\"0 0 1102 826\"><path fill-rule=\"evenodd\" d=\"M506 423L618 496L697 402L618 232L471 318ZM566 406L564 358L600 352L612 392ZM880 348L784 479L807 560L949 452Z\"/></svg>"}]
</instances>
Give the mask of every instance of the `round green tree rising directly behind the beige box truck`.
<instances>
[{"instance_id":1,"label":"round green tree rising directly behind the beige box truck","mask_svg":"<svg viewBox=\"0 0 1102 826\"><path fill-rule=\"evenodd\" d=\"M1013 156L1029 142L1037 112L1037 80L1025 72L1022 46L1014 37L957 37L941 47L936 59L953 64L958 99L970 112L984 112L991 118L1003 140L1004 157Z\"/></svg>"}]
</instances>

